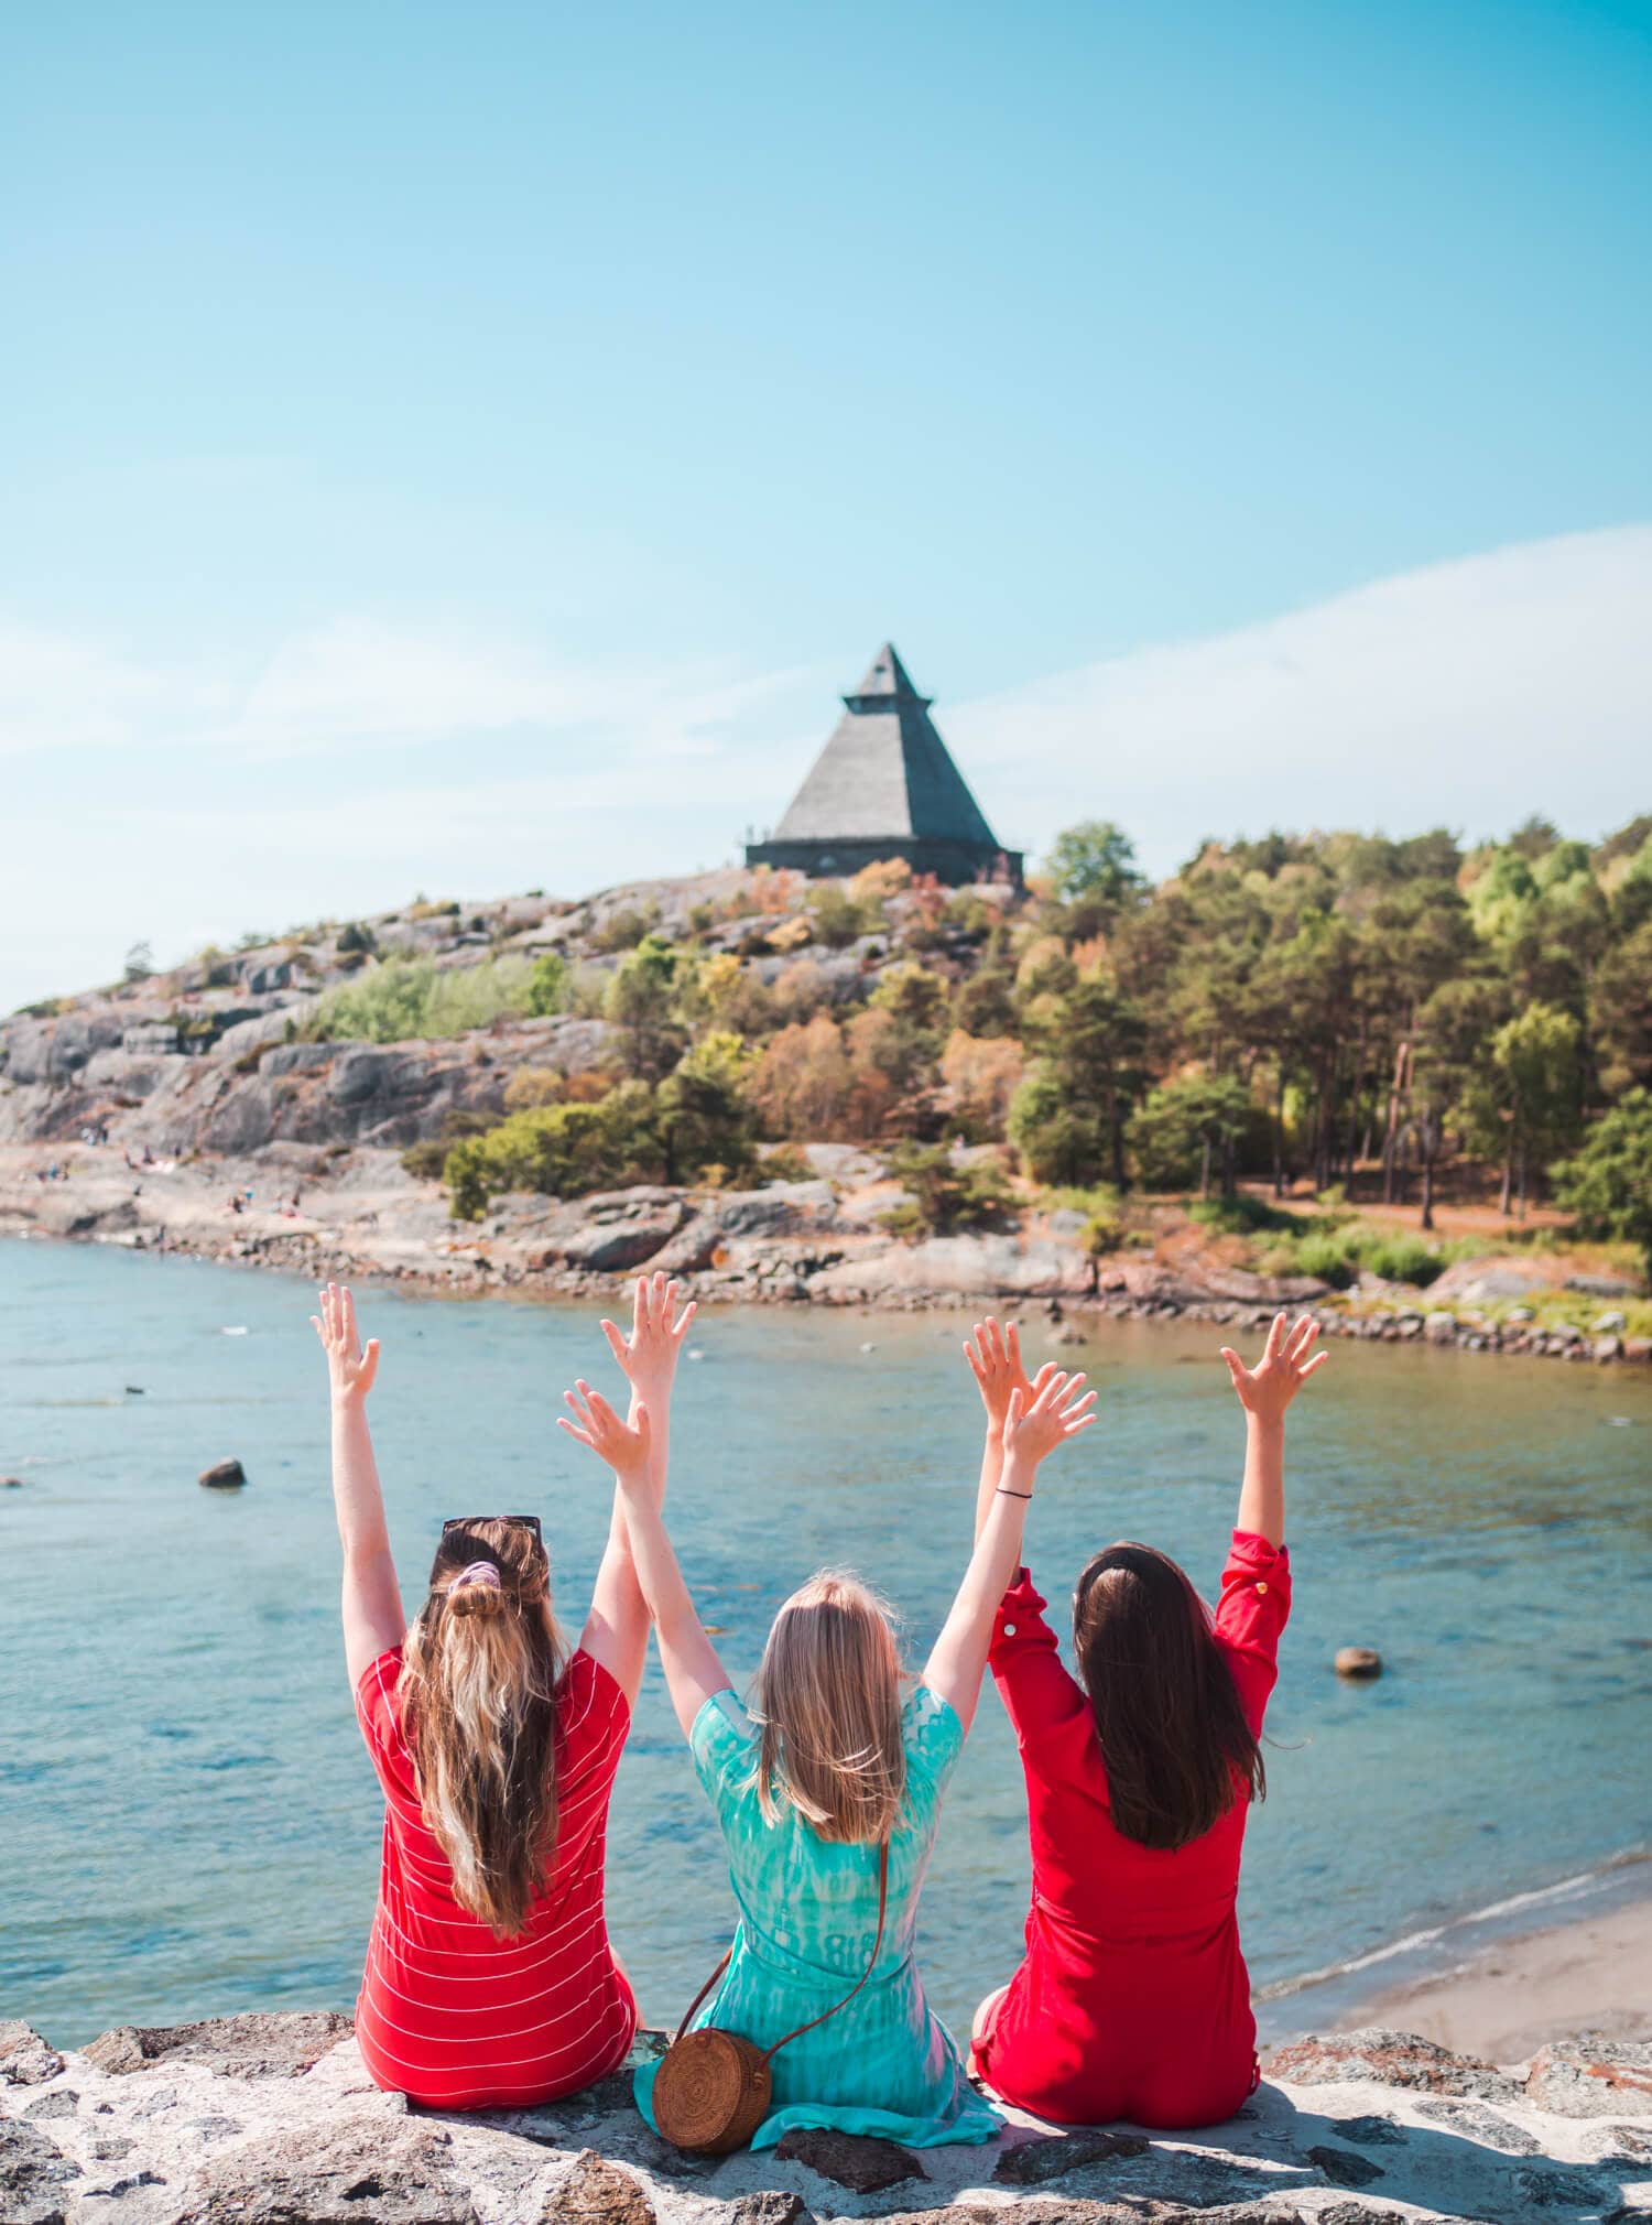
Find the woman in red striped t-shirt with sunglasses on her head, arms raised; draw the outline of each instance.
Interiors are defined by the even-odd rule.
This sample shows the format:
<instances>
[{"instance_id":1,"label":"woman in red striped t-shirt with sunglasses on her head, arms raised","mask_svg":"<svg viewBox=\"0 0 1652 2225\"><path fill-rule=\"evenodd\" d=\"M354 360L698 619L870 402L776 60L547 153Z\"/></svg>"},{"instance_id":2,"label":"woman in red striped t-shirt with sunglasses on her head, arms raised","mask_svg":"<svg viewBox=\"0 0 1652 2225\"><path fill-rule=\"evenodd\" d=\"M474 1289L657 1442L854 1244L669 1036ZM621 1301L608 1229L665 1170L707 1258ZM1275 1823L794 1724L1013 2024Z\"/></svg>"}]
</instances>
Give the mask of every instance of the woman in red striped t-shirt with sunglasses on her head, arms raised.
<instances>
[{"instance_id":1,"label":"woman in red striped t-shirt with sunglasses on her head, arms raised","mask_svg":"<svg viewBox=\"0 0 1652 2225\"><path fill-rule=\"evenodd\" d=\"M367 1431L378 1339L360 1348L338 1284L320 1308L345 1660L385 1793L356 2038L380 2087L427 2107L556 2100L616 2069L636 2034L603 1914L607 1802L649 1640L625 1515L616 1497L574 1653L536 1515L447 1522L409 1629ZM691 1317L656 1275L636 1286L629 1339L603 1324L631 1406L647 1400L654 1415L658 1486Z\"/></svg>"}]
</instances>

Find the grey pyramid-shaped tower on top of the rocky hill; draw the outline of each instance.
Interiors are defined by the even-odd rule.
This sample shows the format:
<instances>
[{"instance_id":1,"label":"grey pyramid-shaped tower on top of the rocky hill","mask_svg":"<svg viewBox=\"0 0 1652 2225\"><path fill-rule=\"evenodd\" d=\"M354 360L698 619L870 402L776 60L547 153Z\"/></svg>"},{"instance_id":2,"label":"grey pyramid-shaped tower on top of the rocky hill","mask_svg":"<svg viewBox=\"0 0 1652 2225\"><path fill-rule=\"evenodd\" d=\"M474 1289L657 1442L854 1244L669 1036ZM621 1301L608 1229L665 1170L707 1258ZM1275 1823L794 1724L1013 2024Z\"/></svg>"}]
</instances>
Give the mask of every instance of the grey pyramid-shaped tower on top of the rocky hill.
<instances>
[{"instance_id":1,"label":"grey pyramid-shaped tower on top of the rocky hill","mask_svg":"<svg viewBox=\"0 0 1652 2225\"><path fill-rule=\"evenodd\" d=\"M936 734L932 701L885 641L780 825L747 843L747 866L825 877L903 857L954 886L1021 881L1021 850L1005 850L987 825Z\"/></svg>"}]
</instances>

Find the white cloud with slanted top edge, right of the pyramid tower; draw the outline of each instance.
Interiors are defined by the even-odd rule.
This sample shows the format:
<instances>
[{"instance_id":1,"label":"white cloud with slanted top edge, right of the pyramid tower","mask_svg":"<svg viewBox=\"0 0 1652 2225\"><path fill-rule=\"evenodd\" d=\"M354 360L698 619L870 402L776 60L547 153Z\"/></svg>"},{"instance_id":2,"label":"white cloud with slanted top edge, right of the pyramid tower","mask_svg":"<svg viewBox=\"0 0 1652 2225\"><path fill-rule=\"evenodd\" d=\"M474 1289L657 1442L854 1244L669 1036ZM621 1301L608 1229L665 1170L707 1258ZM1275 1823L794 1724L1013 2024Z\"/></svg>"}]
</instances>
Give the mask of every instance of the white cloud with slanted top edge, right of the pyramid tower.
<instances>
[{"instance_id":1,"label":"white cloud with slanted top edge, right of the pyramid tower","mask_svg":"<svg viewBox=\"0 0 1652 2225\"><path fill-rule=\"evenodd\" d=\"M1652 808L1652 527L1376 581L1207 641L941 710L1005 841L1125 825L1154 872L1201 834L1532 810L1599 834Z\"/></svg>"}]
</instances>

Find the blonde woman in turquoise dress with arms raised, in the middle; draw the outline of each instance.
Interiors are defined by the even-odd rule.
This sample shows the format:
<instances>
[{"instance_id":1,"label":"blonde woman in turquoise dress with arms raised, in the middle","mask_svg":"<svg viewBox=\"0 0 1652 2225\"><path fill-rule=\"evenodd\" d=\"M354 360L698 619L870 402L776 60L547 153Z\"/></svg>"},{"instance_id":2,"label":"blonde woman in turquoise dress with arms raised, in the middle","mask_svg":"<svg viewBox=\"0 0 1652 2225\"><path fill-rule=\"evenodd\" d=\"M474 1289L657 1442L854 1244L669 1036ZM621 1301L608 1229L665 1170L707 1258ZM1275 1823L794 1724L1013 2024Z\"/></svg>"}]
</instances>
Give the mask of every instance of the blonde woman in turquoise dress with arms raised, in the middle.
<instances>
[{"instance_id":1,"label":"blonde woman in turquoise dress with arms raised, in the middle","mask_svg":"<svg viewBox=\"0 0 1652 2225\"><path fill-rule=\"evenodd\" d=\"M618 1331L609 1337L618 1353L616 1339ZM976 1713L998 1600L1021 1562L1038 1462L1094 1420L1094 1393L1081 1397L1081 1375L1045 1368L1029 1400L1016 1395L992 1511L905 1702L887 1609L858 1578L823 1571L776 1615L752 1711L729 1684L665 1533L647 1406L627 1428L589 1384L567 1395L574 1420L563 1428L618 1477L671 1704L729 1856L740 1920L696 2025L772 2047L834 2009L872 1965L852 2000L772 2056L772 2109L752 2147L774 2147L794 2125L883 2134L907 2147L992 2140L1001 2129L929 2009L914 1936L941 1800ZM636 2074L649 2125L654 2071Z\"/></svg>"}]
</instances>

